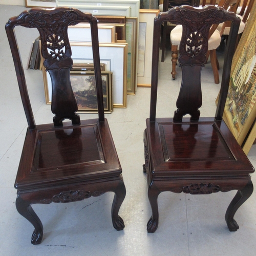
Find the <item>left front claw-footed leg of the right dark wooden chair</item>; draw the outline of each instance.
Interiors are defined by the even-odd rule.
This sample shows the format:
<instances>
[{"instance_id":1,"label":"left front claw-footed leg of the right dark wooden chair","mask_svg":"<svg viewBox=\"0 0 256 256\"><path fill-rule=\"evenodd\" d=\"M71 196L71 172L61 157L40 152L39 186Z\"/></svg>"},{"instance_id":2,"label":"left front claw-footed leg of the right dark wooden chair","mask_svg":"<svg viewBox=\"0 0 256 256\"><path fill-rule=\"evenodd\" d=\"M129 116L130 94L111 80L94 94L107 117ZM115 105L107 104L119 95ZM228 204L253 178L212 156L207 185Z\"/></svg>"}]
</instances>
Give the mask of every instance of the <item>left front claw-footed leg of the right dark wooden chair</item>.
<instances>
[{"instance_id":1,"label":"left front claw-footed leg of the right dark wooden chair","mask_svg":"<svg viewBox=\"0 0 256 256\"><path fill-rule=\"evenodd\" d=\"M150 186L148 188L147 196L148 200L150 200L151 208L152 208L152 216L150 220L147 222L147 232L148 233L154 233L157 230L158 227L158 219L159 219L159 213L158 213L158 203L157 198L160 194L160 191L155 189L154 186Z\"/></svg>"}]
</instances>

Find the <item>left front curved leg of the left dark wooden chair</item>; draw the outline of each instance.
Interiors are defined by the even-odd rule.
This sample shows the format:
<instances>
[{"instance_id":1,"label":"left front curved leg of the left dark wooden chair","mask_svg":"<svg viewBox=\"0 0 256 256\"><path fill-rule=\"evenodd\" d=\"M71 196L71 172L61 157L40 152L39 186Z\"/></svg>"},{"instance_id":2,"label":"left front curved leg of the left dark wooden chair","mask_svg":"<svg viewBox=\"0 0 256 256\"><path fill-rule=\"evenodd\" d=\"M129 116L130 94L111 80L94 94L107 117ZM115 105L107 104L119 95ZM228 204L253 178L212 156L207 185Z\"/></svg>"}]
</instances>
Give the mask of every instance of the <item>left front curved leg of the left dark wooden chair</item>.
<instances>
[{"instance_id":1,"label":"left front curved leg of the left dark wooden chair","mask_svg":"<svg viewBox=\"0 0 256 256\"><path fill-rule=\"evenodd\" d=\"M26 218L35 228L32 234L31 243L40 244L42 241L43 227L40 219L32 209L30 202L23 200L22 197L18 195L16 199L16 208L19 214Z\"/></svg>"}]
</instances>

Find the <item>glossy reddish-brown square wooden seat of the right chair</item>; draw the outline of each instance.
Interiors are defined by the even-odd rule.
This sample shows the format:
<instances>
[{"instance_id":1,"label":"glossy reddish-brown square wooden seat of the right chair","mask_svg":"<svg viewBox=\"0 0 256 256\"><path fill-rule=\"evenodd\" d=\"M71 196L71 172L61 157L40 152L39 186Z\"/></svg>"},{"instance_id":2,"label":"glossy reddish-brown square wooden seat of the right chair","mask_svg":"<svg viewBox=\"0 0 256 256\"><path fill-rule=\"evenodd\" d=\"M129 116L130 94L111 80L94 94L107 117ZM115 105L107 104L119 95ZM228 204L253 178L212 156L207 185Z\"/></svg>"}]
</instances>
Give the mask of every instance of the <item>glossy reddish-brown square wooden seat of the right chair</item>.
<instances>
[{"instance_id":1,"label":"glossy reddish-brown square wooden seat of the right chair","mask_svg":"<svg viewBox=\"0 0 256 256\"><path fill-rule=\"evenodd\" d=\"M146 120L154 177L247 175L254 169L224 122ZM226 142L225 142L226 141Z\"/></svg>"}]
</instances>

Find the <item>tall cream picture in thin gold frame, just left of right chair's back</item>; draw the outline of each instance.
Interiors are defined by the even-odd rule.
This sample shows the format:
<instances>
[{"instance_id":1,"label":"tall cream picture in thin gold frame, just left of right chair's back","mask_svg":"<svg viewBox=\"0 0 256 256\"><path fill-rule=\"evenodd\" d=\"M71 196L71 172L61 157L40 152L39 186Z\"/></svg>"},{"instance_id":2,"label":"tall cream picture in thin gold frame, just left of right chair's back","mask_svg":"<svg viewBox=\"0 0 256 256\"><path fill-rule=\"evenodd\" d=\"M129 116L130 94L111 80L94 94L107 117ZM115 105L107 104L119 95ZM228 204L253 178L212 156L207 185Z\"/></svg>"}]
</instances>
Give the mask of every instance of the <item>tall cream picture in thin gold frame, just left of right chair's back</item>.
<instances>
[{"instance_id":1,"label":"tall cream picture in thin gold frame, just left of right chair's back","mask_svg":"<svg viewBox=\"0 0 256 256\"><path fill-rule=\"evenodd\" d=\"M151 87L152 46L154 18L160 10L140 10L139 50L138 50L138 87Z\"/></svg>"}]
</instances>

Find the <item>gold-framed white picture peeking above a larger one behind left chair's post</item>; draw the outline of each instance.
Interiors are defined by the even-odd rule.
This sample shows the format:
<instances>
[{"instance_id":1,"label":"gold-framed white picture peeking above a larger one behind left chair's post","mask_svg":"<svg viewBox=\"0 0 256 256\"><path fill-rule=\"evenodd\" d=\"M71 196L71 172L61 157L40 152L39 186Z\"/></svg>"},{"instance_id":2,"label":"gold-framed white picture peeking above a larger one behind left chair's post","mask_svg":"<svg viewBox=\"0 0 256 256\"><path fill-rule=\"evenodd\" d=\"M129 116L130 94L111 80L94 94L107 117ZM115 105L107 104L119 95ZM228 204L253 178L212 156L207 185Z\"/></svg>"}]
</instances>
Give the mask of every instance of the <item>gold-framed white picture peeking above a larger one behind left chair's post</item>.
<instances>
[{"instance_id":1,"label":"gold-framed white picture peeking above a larger one behind left chair's post","mask_svg":"<svg viewBox=\"0 0 256 256\"><path fill-rule=\"evenodd\" d=\"M68 27L70 41L91 42L91 26L89 23L79 23ZM116 26L98 24L99 42L116 42Z\"/></svg>"}]
</instances>

